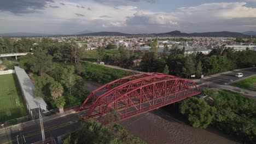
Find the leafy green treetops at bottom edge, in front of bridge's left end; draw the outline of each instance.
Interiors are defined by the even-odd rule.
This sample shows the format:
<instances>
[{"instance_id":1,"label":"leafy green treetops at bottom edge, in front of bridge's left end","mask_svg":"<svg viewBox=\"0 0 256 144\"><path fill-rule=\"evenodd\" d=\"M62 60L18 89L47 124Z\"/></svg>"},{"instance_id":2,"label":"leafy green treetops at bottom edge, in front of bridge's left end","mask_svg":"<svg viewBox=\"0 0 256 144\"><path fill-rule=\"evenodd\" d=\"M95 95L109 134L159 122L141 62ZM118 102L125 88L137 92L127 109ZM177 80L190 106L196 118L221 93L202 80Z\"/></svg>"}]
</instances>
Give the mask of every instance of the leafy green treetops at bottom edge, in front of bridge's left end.
<instances>
[{"instance_id":1,"label":"leafy green treetops at bottom edge, in front of bridge's left end","mask_svg":"<svg viewBox=\"0 0 256 144\"><path fill-rule=\"evenodd\" d=\"M62 139L63 144L76 143L145 143L128 133L119 124L102 125L89 119L82 122L79 129Z\"/></svg>"}]
</instances>

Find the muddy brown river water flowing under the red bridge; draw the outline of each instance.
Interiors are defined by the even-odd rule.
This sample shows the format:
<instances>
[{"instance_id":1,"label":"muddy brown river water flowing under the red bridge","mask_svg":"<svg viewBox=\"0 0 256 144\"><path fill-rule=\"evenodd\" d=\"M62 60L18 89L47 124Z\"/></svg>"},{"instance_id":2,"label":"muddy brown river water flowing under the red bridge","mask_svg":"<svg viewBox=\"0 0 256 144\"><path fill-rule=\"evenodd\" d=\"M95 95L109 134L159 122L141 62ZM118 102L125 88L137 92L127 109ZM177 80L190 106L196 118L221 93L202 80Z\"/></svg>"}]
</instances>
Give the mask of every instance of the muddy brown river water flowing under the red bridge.
<instances>
[{"instance_id":1,"label":"muddy brown river water flowing under the red bridge","mask_svg":"<svg viewBox=\"0 0 256 144\"><path fill-rule=\"evenodd\" d=\"M100 86L100 83L88 81L86 88L93 91ZM120 124L147 143L238 143L220 131L191 127L161 108L125 119Z\"/></svg>"}]
</instances>

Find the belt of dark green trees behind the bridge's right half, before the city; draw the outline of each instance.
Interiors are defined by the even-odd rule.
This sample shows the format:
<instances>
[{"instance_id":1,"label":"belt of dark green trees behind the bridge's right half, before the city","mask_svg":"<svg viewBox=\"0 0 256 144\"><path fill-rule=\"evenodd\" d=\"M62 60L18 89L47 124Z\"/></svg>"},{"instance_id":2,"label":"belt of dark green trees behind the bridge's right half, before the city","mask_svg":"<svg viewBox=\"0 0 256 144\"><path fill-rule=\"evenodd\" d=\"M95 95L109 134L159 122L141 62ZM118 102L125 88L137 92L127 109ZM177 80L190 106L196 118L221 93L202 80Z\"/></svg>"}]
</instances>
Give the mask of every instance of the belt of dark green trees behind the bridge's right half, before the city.
<instances>
[{"instance_id":1,"label":"belt of dark green trees behind the bridge's right half, before the city","mask_svg":"<svg viewBox=\"0 0 256 144\"><path fill-rule=\"evenodd\" d=\"M156 43L156 41L154 42ZM234 49L213 49L209 55L195 52L185 55L185 49L178 49L172 46L169 54L159 55L154 50L144 53L140 65L142 71L160 72L164 71L165 65L168 66L169 74L177 76L210 75L235 68L252 67L256 64L256 51L235 51Z\"/></svg>"}]
</instances>

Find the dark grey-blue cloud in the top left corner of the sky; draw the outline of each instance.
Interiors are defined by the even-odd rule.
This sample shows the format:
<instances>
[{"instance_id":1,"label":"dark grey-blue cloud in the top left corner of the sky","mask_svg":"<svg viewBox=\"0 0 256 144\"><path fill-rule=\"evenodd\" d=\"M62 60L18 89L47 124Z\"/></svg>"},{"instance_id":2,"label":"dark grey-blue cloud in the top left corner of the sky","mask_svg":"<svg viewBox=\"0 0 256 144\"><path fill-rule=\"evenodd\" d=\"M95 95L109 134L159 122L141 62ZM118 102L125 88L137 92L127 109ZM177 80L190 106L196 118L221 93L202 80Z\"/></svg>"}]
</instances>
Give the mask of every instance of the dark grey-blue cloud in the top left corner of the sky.
<instances>
[{"instance_id":1,"label":"dark grey-blue cloud in the top left corner of the sky","mask_svg":"<svg viewBox=\"0 0 256 144\"><path fill-rule=\"evenodd\" d=\"M53 0L11 0L0 1L0 10L10 11L14 14L35 13L38 9L44 9L47 3L54 3Z\"/></svg>"}]
</instances>

